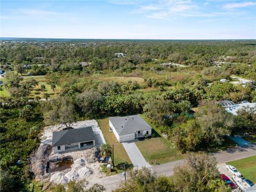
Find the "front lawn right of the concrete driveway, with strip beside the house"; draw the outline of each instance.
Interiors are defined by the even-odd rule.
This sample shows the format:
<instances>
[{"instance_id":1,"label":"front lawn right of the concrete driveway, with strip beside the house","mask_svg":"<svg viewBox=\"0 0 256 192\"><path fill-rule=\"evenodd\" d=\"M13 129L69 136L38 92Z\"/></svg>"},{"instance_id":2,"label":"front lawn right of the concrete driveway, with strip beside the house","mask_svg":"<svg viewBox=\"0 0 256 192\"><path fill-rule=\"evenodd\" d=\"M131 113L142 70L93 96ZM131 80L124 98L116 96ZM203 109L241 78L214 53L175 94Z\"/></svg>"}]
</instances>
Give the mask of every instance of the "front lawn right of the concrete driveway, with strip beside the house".
<instances>
[{"instance_id":1,"label":"front lawn right of the concrete driveway, with strip beside the house","mask_svg":"<svg viewBox=\"0 0 256 192\"><path fill-rule=\"evenodd\" d=\"M143 118L145 119L145 117ZM147 119L145 120L147 121ZM172 143L162 137L152 124L148 121L147 123L153 127L152 134L154 133L156 136L151 139L136 142L137 147L140 149L146 161L154 165L181 159L182 155L173 147Z\"/></svg>"}]
</instances>

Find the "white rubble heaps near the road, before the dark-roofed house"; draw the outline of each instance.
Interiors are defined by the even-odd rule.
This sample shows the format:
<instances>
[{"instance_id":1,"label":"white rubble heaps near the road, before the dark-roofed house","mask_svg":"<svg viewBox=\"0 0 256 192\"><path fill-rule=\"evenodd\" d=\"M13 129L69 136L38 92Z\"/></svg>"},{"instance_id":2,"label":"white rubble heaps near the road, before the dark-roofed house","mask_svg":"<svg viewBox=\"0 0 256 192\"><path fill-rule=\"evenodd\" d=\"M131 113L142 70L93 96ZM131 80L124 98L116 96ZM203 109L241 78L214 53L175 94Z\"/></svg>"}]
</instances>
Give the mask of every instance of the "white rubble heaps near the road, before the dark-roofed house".
<instances>
[{"instance_id":1,"label":"white rubble heaps near the road, before the dark-roofed house","mask_svg":"<svg viewBox=\"0 0 256 192\"><path fill-rule=\"evenodd\" d=\"M57 184L67 184L72 180L88 179L92 176L93 171L90 167L85 166L85 160L76 159L72 165L71 171L68 173L56 172L52 174L50 181Z\"/></svg>"}]
</instances>

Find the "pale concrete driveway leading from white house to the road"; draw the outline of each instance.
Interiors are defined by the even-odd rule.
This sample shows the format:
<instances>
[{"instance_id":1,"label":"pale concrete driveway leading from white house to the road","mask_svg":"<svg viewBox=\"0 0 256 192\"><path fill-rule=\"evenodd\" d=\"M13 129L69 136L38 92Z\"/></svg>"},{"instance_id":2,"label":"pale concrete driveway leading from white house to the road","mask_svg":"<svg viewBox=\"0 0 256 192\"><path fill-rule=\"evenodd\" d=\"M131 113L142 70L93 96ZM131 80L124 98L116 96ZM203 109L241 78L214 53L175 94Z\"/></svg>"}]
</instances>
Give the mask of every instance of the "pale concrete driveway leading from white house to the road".
<instances>
[{"instance_id":1,"label":"pale concrete driveway leading from white house to the road","mask_svg":"<svg viewBox=\"0 0 256 192\"><path fill-rule=\"evenodd\" d=\"M131 159L131 162L133 166L141 168L143 166L149 167L149 163L146 162L145 158L140 153L140 150L138 149L135 142L122 142L126 153L128 154L129 158Z\"/></svg>"}]
</instances>

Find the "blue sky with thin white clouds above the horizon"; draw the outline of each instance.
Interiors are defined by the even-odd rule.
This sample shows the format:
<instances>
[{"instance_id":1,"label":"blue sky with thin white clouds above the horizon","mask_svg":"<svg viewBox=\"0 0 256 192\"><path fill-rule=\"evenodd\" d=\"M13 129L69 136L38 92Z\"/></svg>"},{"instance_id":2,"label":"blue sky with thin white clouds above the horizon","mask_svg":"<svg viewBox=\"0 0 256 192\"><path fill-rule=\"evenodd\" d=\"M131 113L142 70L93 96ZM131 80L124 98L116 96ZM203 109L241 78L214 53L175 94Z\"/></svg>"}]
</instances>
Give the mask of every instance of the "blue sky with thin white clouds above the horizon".
<instances>
[{"instance_id":1,"label":"blue sky with thin white clouds above the horizon","mask_svg":"<svg viewBox=\"0 0 256 192\"><path fill-rule=\"evenodd\" d=\"M2 1L1 37L255 39L256 1Z\"/></svg>"}]
</instances>

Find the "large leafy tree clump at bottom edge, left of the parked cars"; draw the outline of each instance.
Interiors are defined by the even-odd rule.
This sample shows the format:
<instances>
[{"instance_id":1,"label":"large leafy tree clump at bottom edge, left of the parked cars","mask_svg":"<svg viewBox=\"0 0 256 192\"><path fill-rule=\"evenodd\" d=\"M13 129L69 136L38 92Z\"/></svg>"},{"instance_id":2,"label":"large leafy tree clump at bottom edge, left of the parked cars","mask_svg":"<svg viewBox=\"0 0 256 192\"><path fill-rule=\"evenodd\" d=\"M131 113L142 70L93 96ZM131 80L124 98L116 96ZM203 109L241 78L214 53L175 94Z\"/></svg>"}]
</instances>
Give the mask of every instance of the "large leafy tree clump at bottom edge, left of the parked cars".
<instances>
[{"instance_id":1,"label":"large leafy tree clump at bottom edge, left of the parked cars","mask_svg":"<svg viewBox=\"0 0 256 192\"><path fill-rule=\"evenodd\" d=\"M188 155L185 164L175 166L172 177L174 191L231 191L219 178L217 162L204 153Z\"/></svg>"}]
</instances>

